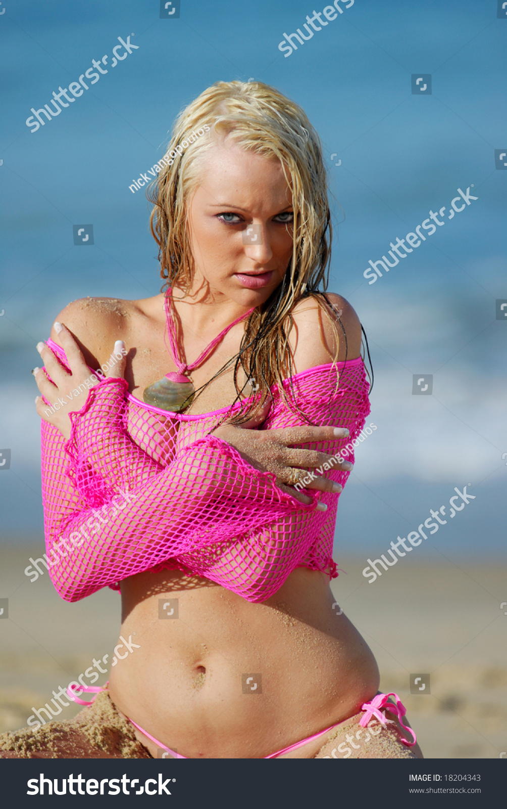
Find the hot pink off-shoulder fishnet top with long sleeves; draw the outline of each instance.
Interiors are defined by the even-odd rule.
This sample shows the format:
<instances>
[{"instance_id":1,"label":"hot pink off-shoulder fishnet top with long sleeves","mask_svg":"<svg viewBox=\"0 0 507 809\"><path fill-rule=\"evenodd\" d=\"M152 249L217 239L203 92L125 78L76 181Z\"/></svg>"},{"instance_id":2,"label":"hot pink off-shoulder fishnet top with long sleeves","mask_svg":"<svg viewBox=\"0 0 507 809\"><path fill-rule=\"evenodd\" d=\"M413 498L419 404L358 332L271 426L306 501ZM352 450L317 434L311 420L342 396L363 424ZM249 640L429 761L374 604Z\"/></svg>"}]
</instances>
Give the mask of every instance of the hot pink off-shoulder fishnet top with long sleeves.
<instances>
[{"instance_id":1,"label":"hot pink off-shoulder fishnet top with long sleeves","mask_svg":"<svg viewBox=\"0 0 507 809\"><path fill-rule=\"evenodd\" d=\"M48 340L67 367L65 353ZM337 368L339 385L337 388ZM329 454L353 440L370 412L361 358L292 377L300 409L350 438L320 444ZM287 380L289 401L294 397ZM84 388L84 386L83 386ZM298 566L337 576L333 534L338 494L316 511L284 493L210 430L227 408L168 413L136 399L124 379L104 379L72 413L69 441L42 421L42 493L49 573L62 598L78 601L145 570L179 569L243 598L264 601ZM262 430L306 424L276 388ZM239 404L237 404L239 407ZM323 470L321 470L323 471ZM344 485L340 464L325 472Z\"/></svg>"}]
</instances>

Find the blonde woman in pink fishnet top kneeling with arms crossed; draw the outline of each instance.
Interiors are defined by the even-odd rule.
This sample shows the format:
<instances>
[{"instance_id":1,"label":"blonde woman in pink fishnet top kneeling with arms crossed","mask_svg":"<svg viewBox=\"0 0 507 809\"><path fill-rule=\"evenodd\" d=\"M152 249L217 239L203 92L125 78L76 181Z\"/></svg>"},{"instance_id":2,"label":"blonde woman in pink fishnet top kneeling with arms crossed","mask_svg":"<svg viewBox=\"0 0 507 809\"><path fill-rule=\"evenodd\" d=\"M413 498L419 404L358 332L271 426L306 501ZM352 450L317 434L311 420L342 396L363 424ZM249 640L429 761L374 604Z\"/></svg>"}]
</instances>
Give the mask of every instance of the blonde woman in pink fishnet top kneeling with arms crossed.
<instances>
[{"instance_id":1,"label":"blonde woman in pink fishnet top kneeling with arms crossed","mask_svg":"<svg viewBox=\"0 0 507 809\"><path fill-rule=\"evenodd\" d=\"M159 170L166 294L71 303L37 346L50 574L71 601L121 590L119 659L77 718L2 755L420 756L329 589L369 405L358 317L317 293L316 133L273 88L216 83Z\"/></svg>"}]
</instances>

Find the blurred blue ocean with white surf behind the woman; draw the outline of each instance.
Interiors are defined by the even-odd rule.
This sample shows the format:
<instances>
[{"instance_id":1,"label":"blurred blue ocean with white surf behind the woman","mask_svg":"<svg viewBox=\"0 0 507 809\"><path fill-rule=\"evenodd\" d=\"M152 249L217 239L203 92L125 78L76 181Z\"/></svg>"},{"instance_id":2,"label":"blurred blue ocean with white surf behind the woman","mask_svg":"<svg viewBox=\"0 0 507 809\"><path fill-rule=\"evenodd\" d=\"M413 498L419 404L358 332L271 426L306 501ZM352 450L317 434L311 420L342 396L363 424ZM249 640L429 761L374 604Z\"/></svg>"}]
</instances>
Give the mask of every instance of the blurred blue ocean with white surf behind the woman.
<instances>
[{"instance_id":1,"label":"blurred blue ocean with white surf behind the woman","mask_svg":"<svg viewBox=\"0 0 507 809\"><path fill-rule=\"evenodd\" d=\"M495 301L507 300L507 172L495 150L507 152L507 19L496 0L346 0L287 58L284 32L323 3L181 0L178 19L160 19L159 5L2 5L4 538L41 531L34 345L70 300L159 290L149 206L128 186L161 157L174 116L199 92L257 78L301 104L321 136L335 222L329 288L350 299L371 341L379 429L358 450L339 533L361 551L384 547L470 482L475 511L446 541L458 554L499 553L507 324ZM128 36L137 49L113 69L112 49ZM31 133L30 109L105 54L107 74ZM413 95L419 71L431 74L431 95ZM429 210L446 206L448 216L458 188L477 200L370 286L368 260ZM83 223L93 223L93 246L73 245ZM414 374L434 376L432 396L412 395Z\"/></svg>"}]
</instances>

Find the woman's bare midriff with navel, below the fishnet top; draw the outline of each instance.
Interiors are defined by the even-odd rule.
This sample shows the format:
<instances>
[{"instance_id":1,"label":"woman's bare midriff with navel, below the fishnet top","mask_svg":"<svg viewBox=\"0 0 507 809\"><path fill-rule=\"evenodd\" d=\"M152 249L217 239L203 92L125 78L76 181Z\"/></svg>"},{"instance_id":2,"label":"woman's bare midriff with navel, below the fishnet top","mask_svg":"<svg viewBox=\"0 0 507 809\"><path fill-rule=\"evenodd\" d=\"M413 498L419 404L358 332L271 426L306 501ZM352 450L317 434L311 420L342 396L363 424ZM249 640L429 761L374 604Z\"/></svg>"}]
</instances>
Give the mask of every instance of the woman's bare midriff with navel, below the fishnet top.
<instances>
[{"instance_id":1,"label":"woman's bare midriff with navel, below the fishnet top","mask_svg":"<svg viewBox=\"0 0 507 809\"><path fill-rule=\"evenodd\" d=\"M379 688L375 658L333 610L325 574L298 568L251 604L207 579L147 572L122 583L122 602L121 634L139 648L121 650L111 698L188 758L262 758L357 713ZM310 758L322 743L289 756Z\"/></svg>"}]
</instances>

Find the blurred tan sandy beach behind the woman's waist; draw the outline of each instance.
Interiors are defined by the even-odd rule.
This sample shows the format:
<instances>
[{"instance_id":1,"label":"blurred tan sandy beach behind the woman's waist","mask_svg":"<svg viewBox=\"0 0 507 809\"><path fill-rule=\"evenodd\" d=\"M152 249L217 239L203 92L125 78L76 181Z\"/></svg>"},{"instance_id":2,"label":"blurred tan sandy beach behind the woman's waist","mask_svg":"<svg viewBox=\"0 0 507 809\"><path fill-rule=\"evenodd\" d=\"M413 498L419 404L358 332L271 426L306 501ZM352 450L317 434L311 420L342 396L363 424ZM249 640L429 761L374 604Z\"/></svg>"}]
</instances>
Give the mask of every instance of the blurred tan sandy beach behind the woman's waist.
<instances>
[{"instance_id":1,"label":"blurred tan sandy beach behind the woman's waist","mask_svg":"<svg viewBox=\"0 0 507 809\"><path fill-rule=\"evenodd\" d=\"M2 548L0 598L9 599L9 617L0 620L0 731L25 726L52 689L111 655L119 633L119 595L105 589L66 604L47 574L33 583L23 574L40 554L40 546ZM505 565L407 562L372 585L364 565L341 558L346 573L333 592L371 646L381 688L406 705L425 756L498 758L507 750ZM429 674L422 693L410 693L411 674ZM70 705L61 718L78 709Z\"/></svg>"}]
</instances>

